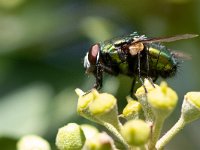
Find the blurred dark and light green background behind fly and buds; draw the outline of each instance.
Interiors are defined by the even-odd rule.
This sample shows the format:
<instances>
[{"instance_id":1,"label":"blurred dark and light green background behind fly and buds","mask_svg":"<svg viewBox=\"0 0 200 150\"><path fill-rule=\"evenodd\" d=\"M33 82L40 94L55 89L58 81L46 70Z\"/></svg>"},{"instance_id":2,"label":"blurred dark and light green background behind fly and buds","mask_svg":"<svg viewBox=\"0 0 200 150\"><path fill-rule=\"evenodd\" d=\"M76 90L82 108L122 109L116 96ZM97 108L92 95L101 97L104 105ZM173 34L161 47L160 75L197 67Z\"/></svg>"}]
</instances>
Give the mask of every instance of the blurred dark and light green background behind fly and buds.
<instances>
[{"instance_id":1,"label":"blurred dark and light green background behind fly and buds","mask_svg":"<svg viewBox=\"0 0 200 150\"><path fill-rule=\"evenodd\" d=\"M90 89L83 58L91 44L138 31L151 37L200 33L199 0L0 0L0 149L14 150L26 134L38 134L55 149L59 127L86 123L76 114L75 88ZM183 96L200 90L200 39L168 43L192 59L168 79L179 106ZM159 83L159 81L158 81ZM122 110L131 79L106 75L102 91L113 93ZM165 131L164 131L165 132ZM200 121L188 125L170 150L200 149Z\"/></svg>"}]
</instances>

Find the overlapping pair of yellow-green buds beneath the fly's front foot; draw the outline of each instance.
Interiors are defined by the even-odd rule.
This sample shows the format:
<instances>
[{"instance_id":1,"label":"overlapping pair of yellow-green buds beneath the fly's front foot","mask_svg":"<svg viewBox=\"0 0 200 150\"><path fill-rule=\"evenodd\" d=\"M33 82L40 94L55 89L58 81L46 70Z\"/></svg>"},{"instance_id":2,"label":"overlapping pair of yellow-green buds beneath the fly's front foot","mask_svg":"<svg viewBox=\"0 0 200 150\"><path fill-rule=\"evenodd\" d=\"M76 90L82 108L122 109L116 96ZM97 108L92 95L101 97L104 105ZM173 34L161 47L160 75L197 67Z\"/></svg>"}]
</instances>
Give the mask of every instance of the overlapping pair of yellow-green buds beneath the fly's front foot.
<instances>
[{"instance_id":1,"label":"overlapping pair of yellow-green buds beneath the fly's front foot","mask_svg":"<svg viewBox=\"0 0 200 150\"><path fill-rule=\"evenodd\" d=\"M87 94L80 94L77 110L81 116L91 121L104 126L113 126L116 129L120 128L117 100L111 94L98 93L95 89Z\"/></svg>"}]
</instances>

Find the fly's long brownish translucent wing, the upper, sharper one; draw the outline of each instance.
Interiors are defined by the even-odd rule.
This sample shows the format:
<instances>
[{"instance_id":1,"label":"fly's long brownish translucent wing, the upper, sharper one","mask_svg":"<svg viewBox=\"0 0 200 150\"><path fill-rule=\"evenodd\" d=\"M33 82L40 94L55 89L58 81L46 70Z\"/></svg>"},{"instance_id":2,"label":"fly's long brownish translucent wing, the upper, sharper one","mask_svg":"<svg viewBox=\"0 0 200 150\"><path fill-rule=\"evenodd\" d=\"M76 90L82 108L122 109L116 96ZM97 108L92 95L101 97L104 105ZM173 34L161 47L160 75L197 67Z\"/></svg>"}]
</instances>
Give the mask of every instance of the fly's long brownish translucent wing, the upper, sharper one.
<instances>
[{"instance_id":1,"label":"fly's long brownish translucent wing, the upper, sharper one","mask_svg":"<svg viewBox=\"0 0 200 150\"><path fill-rule=\"evenodd\" d=\"M147 39L142 39L142 40L135 40L133 41L134 43L156 43L156 42L173 42L173 41L178 41L178 40L184 40L184 39L191 39L191 38L195 38L199 35L197 34L182 34L182 35L175 35L175 36L171 36L171 37L161 37L161 38L147 38Z\"/></svg>"}]
</instances>

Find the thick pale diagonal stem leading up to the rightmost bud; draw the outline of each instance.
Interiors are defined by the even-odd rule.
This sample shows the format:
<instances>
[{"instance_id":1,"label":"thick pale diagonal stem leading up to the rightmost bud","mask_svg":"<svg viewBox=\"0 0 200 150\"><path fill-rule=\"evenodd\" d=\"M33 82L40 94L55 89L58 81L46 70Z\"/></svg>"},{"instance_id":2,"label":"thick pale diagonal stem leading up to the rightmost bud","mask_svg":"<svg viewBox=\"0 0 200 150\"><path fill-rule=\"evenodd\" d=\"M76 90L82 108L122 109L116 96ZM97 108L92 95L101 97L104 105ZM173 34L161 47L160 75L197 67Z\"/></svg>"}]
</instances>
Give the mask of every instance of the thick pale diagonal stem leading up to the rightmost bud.
<instances>
[{"instance_id":1,"label":"thick pale diagonal stem leading up to the rightmost bud","mask_svg":"<svg viewBox=\"0 0 200 150\"><path fill-rule=\"evenodd\" d=\"M162 137L156 144L158 150L163 149L163 147L186 125L186 122L182 117L177 121L177 123Z\"/></svg>"}]
</instances>

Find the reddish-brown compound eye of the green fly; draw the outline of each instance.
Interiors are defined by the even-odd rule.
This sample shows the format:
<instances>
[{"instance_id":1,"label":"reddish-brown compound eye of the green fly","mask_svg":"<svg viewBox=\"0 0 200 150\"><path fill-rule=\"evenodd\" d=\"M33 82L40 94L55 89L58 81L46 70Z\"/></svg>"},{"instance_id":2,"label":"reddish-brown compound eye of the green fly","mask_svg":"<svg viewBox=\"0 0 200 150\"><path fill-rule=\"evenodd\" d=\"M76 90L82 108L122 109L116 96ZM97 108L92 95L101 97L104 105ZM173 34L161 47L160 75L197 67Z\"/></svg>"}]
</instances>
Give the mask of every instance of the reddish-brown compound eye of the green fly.
<instances>
[{"instance_id":1,"label":"reddish-brown compound eye of the green fly","mask_svg":"<svg viewBox=\"0 0 200 150\"><path fill-rule=\"evenodd\" d=\"M99 44L95 44L91 47L88 53L88 60L91 65L95 65L99 54Z\"/></svg>"}]
</instances>

